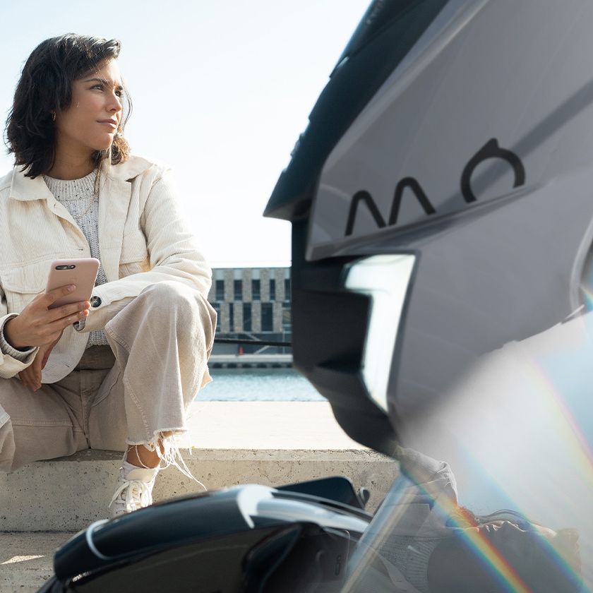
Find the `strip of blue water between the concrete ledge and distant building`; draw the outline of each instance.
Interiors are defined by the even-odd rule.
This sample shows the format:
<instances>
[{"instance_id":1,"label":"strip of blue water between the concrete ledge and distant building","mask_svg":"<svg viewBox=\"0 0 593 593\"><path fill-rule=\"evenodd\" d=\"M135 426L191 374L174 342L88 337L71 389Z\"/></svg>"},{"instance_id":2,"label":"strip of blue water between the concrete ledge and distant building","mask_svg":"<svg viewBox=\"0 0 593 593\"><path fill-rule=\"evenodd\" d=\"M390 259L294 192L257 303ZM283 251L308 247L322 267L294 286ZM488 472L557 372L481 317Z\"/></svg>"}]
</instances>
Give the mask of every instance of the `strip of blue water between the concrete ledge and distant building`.
<instances>
[{"instance_id":1,"label":"strip of blue water between the concrete ledge and distant building","mask_svg":"<svg viewBox=\"0 0 593 593\"><path fill-rule=\"evenodd\" d=\"M212 383L196 400L213 402L325 402L294 369L210 369Z\"/></svg>"}]
</instances>

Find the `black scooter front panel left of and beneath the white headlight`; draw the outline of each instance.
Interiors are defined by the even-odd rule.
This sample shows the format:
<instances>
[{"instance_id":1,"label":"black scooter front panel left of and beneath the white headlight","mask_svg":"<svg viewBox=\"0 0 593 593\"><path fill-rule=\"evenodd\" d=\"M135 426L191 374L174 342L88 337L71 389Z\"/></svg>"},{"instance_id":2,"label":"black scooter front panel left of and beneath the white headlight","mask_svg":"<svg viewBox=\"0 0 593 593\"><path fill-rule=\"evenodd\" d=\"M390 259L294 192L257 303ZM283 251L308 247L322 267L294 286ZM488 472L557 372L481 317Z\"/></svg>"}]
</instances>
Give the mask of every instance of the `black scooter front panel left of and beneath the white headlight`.
<instances>
[{"instance_id":1,"label":"black scooter front panel left of and beneath the white headlight","mask_svg":"<svg viewBox=\"0 0 593 593\"><path fill-rule=\"evenodd\" d=\"M395 457L398 435L362 378L369 297L344 286L348 266L359 257L308 261L306 233L306 222L292 224L294 368L328 399L350 438Z\"/></svg>"}]
</instances>

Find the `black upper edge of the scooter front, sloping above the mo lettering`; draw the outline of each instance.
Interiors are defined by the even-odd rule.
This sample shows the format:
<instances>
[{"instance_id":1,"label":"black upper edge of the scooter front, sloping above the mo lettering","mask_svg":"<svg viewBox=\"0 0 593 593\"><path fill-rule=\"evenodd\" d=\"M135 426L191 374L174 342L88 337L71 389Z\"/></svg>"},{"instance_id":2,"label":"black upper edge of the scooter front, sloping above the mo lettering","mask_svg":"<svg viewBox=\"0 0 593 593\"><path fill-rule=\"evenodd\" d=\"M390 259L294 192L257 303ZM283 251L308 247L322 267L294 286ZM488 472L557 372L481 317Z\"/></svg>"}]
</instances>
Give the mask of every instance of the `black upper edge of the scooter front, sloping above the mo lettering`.
<instances>
[{"instance_id":1,"label":"black upper edge of the scooter front, sloping above the mo lettering","mask_svg":"<svg viewBox=\"0 0 593 593\"><path fill-rule=\"evenodd\" d=\"M309 213L330 152L448 0L375 0L309 115L264 216L296 222Z\"/></svg>"}]
</instances>

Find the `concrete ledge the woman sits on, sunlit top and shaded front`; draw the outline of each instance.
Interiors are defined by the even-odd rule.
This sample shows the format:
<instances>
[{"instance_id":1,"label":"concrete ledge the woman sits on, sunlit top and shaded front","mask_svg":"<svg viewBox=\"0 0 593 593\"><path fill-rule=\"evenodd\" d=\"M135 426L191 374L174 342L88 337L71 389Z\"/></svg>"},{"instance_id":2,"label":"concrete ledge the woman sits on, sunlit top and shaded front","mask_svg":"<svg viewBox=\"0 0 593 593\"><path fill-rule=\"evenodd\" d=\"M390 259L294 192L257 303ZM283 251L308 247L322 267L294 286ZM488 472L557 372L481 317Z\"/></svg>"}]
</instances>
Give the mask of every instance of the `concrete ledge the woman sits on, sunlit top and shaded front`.
<instances>
[{"instance_id":1,"label":"concrete ledge the woman sits on, sunlit top and shaded front","mask_svg":"<svg viewBox=\"0 0 593 593\"><path fill-rule=\"evenodd\" d=\"M349 439L326 402L200 402L182 450L208 489L279 486L345 475L381 502L397 463ZM0 475L0 532L73 532L109 516L121 453L86 450ZM164 470L155 501L201 491L175 468Z\"/></svg>"}]
</instances>

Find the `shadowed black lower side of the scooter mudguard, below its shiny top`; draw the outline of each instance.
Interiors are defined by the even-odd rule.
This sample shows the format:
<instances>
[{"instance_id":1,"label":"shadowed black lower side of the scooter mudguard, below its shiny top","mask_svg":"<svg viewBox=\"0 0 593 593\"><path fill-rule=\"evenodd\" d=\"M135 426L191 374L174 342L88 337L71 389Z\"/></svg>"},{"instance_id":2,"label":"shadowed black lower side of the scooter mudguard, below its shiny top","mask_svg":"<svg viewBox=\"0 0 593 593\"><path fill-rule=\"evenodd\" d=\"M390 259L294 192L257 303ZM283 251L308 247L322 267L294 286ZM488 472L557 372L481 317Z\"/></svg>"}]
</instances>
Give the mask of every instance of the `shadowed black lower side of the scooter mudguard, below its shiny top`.
<instances>
[{"instance_id":1,"label":"shadowed black lower side of the scooter mudguard, below its shiny top","mask_svg":"<svg viewBox=\"0 0 593 593\"><path fill-rule=\"evenodd\" d=\"M169 546L66 582L54 577L41 592L337 593L349 549L347 532L297 522Z\"/></svg>"}]
</instances>

